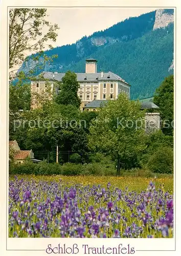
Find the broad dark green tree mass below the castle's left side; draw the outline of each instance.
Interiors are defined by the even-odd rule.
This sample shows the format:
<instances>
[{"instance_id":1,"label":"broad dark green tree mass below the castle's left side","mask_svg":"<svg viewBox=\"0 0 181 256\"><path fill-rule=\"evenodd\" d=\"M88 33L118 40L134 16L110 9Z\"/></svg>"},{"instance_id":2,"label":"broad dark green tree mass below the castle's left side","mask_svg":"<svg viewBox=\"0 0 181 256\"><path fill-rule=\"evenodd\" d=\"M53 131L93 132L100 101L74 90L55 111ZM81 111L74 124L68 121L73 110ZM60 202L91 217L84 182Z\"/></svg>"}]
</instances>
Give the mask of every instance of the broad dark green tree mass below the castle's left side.
<instances>
[{"instance_id":1,"label":"broad dark green tree mass below the castle's left side","mask_svg":"<svg viewBox=\"0 0 181 256\"><path fill-rule=\"evenodd\" d=\"M40 160L48 158L46 151L55 152L57 144L59 151L87 152L87 133L79 112L76 106L57 103L23 112L19 117L21 124L15 131L12 127L11 139L16 140L22 150L32 149ZM51 157L55 161L53 155L49 160L52 161ZM68 155L62 154L61 159L68 161Z\"/></svg>"}]
</instances>

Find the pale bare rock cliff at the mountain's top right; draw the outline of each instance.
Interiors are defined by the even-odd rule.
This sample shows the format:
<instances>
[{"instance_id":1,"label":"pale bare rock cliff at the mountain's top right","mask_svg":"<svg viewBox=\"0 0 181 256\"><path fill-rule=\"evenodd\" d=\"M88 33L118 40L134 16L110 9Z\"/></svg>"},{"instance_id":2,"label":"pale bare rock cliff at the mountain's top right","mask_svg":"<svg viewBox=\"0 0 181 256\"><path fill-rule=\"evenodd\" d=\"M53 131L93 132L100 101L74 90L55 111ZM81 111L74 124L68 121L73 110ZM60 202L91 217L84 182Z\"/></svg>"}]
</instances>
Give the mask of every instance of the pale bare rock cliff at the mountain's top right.
<instances>
[{"instance_id":1,"label":"pale bare rock cliff at the mountain's top right","mask_svg":"<svg viewBox=\"0 0 181 256\"><path fill-rule=\"evenodd\" d=\"M153 30L165 28L172 22L174 22L173 12L166 12L164 9L156 10Z\"/></svg>"}]
</instances>

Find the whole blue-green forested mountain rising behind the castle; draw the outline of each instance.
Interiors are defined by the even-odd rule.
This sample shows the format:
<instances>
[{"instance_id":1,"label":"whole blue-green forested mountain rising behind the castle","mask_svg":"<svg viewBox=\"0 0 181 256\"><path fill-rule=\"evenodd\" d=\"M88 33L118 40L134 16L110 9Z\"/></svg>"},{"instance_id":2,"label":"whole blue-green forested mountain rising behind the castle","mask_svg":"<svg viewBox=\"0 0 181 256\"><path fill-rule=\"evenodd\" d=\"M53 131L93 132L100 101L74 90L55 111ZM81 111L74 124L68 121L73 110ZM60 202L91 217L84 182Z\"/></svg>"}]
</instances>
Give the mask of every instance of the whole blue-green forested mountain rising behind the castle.
<instances>
[{"instance_id":1,"label":"whole blue-green forested mountain rising behind the castle","mask_svg":"<svg viewBox=\"0 0 181 256\"><path fill-rule=\"evenodd\" d=\"M85 72L85 59L98 60L98 72L112 72L131 84L131 98L152 97L162 80L173 73L173 10L162 9L131 17L75 44L44 52L58 54L41 71ZM38 64L42 64L42 59ZM25 61L20 70L36 66ZM38 73L37 72L37 73Z\"/></svg>"}]
</instances>

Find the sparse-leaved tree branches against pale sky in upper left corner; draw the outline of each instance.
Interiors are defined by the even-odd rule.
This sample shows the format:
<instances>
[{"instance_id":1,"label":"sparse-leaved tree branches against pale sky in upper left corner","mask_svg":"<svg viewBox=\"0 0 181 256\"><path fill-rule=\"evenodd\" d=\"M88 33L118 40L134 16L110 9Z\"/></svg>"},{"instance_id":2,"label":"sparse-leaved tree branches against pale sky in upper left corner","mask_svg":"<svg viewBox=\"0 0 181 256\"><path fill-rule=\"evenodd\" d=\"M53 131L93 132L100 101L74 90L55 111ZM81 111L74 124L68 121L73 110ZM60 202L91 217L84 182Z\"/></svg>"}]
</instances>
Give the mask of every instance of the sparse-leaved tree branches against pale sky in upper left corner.
<instances>
[{"instance_id":1,"label":"sparse-leaved tree branches against pale sky in upper left corner","mask_svg":"<svg viewBox=\"0 0 181 256\"><path fill-rule=\"evenodd\" d=\"M42 29L46 31L42 32ZM42 54L49 40L56 41L59 29L57 24L47 20L47 9L13 8L9 10L9 68L20 66L26 56L32 53ZM48 44L47 44L48 42ZM33 56L38 60L38 55Z\"/></svg>"}]
</instances>

